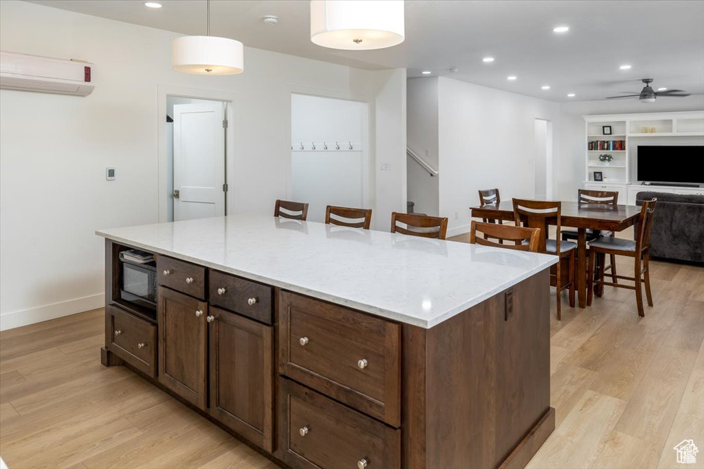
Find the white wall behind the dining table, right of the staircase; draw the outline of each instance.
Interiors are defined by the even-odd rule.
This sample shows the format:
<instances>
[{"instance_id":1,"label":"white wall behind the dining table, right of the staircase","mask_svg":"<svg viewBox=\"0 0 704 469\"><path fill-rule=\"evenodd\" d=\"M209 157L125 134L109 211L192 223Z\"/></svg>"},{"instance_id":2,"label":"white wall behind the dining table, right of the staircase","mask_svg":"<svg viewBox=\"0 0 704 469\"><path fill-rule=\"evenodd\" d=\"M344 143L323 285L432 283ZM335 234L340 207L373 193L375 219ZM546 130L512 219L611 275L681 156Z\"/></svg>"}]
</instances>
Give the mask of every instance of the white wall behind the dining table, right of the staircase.
<instances>
[{"instance_id":1,"label":"white wall behind the dining table, right of the staircase","mask_svg":"<svg viewBox=\"0 0 704 469\"><path fill-rule=\"evenodd\" d=\"M440 215L449 219L448 236L469 231L479 189L498 187L501 200L534 195L536 117L560 133L558 103L439 78ZM553 196L567 200L583 166L574 171L574 155L554 140Z\"/></svg>"}]
</instances>

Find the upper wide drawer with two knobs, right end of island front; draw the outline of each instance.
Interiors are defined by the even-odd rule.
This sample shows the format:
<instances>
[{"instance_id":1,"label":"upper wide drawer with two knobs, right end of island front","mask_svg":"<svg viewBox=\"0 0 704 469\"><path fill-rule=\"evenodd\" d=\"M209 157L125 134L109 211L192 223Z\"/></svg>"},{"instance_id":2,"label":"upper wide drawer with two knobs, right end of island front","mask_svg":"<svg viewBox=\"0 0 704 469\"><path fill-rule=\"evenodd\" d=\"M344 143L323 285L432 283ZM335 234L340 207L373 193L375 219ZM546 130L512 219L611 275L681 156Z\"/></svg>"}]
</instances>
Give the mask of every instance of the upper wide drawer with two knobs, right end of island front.
<instances>
[{"instance_id":1,"label":"upper wide drawer with two knobs, right end of island front","mask_svg":"<svg viewBox=\"0 0 704 469\"><path fill-rule=\"evenodd\" d=\"M279 327L279 373L401 425L398 324L281 292Z\"/></svg>"}]
</instances>

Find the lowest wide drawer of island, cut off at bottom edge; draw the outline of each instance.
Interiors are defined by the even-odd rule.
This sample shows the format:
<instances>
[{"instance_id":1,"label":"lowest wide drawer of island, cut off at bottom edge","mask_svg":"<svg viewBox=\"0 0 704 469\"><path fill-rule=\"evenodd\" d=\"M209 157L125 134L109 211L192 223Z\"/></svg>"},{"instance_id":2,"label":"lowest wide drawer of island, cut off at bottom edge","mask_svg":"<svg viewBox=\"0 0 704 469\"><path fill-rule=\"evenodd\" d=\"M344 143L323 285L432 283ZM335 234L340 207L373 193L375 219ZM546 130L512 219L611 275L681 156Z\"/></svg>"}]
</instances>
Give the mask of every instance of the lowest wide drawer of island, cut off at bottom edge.
<instances>
[{"instance_id":1,"label":"lowest wide drawer of island, cut off at bottom edge","mask_svg":"<svg viewBox=\"0 0 704 469\"><path fill-rule=\"evenodd\" d=\"M285 378L279 384L277 455L285 463L306 469L401 467L401 430Z\"/></svg>"}]
</instances>

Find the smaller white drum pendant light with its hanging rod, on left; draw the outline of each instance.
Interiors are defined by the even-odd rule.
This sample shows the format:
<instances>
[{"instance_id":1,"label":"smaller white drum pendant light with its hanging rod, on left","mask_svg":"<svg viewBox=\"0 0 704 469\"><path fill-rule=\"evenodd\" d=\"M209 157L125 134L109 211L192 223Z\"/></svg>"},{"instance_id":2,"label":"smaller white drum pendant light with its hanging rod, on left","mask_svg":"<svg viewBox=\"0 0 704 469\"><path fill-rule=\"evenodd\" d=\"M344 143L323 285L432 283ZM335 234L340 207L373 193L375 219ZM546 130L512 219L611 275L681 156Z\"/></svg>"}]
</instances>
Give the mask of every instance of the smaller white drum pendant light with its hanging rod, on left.
<instances>
[{"instance_id":1,"label":"smaller white drum pendant light with its hanging rod, on left","mask_svg":"<svg viewBox=\"0 0 704 469\"><path fill-rule=\"evenodd\" d=\"M174 70L199 75L235 75L244 71L244 46L227 37L210 36L210 0L207 36L177 37L171 43Z\"/></svg>"}]
</instances>

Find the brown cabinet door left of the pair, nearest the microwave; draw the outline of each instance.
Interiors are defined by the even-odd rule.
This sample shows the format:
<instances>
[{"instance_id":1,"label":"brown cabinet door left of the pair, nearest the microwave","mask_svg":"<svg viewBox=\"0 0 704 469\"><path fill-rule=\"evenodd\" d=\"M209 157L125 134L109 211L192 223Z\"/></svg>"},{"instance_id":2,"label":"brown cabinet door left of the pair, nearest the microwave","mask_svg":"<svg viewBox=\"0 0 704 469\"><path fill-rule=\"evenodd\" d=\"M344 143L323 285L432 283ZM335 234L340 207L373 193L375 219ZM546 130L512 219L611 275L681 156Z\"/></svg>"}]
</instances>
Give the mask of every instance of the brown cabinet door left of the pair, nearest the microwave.
<instances>
[{"instance_id":1,"label":"brown cabinet door left of the pair, nearest the microwave","mask_svg":"<svg viewBox=\"0 0 704 469\"><path fill-rule=\"evenodd\" d=\"M158 305L159 381L205 410L208 303L160 286Z\"/></svg>"}]
</instances>

